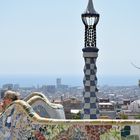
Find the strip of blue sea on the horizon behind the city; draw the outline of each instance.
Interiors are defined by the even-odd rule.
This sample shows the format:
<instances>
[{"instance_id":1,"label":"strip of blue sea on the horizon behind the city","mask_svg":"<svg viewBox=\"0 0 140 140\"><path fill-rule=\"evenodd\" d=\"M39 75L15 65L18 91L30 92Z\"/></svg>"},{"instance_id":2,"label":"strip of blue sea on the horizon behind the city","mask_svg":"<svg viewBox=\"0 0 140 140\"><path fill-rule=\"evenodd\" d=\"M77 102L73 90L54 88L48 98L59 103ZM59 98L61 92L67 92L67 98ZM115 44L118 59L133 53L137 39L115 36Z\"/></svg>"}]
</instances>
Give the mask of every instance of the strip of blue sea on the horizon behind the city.
<instances>
[{"instance_id":1,"label":"strip of blue sea on the horizon behind the city","mask_svg":"<svg viewBox=\"0 0 140 140\"><path fill-rule=\"evenodd\" d=\"M61 78L61 84L83 86L84 75L71 76L50 76L50 75L7 75L0 76L0 87L4 84L19 84L21 87L56 85L56 79ZM100 76L97 75L97 85L99 86L135 86L138 85L140 76Z\"/></svg>"}]
</instances>

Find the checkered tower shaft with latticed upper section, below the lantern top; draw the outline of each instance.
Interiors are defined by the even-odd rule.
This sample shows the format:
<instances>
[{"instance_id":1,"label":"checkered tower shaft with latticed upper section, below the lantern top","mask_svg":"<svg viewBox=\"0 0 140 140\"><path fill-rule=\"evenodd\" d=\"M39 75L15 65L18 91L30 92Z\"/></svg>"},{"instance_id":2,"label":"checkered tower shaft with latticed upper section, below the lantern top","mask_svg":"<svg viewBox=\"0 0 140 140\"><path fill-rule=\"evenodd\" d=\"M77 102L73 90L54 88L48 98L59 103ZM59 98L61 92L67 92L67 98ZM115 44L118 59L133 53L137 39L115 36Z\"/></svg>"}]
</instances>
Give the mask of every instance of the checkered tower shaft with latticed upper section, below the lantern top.
<instances>
[{"instance_id":1,"label":"checkered tower shaft with latticed upper section, below the lantern top","mask_svg":"<svg viewBox=\"0 0 140 140\"><path fill-rule=\"evenodd\" d=\"M83 119L97 119L99 117L97 102L97 67L98 48L96 48L96 26L85 27L85 48L83 49L84 66L84 103Z\"/></svg>"}]
</instances>

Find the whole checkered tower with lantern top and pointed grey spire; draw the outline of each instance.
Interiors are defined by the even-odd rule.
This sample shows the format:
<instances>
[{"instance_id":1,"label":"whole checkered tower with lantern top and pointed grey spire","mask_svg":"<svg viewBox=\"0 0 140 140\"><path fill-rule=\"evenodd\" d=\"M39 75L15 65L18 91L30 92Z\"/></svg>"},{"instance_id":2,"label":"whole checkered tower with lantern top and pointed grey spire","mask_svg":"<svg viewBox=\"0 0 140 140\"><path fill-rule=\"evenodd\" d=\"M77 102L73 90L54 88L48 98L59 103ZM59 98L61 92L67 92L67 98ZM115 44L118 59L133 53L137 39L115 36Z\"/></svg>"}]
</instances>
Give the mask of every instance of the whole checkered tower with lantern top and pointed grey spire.
<instances>
[{"instance_id":1,"label":"whole checkered tower with lantern top and pointed grey spire","mask_svg":"<svg viewBox=\"0 0 140 140\"><path fill-rule=\"evenodd\" d=\"M83 91L83 119L97 119L99 117L97 101L97 67L96 59L99 49L96 47L96 25L99 14L95 11L92 0L88 1L86 11L81 15L85 25L85 47L82 49L85 60L84 91Z\"/></svg>"}]
</instances>

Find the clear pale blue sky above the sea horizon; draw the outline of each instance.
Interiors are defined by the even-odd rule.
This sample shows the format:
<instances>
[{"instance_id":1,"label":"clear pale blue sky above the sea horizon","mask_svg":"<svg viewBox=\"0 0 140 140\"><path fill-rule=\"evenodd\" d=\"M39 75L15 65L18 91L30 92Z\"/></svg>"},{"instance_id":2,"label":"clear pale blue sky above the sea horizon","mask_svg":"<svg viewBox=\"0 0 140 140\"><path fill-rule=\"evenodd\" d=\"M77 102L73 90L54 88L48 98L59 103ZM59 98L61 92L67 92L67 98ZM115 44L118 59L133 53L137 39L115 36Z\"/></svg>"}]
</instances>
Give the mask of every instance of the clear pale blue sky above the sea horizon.
<instances>
[{"instance_id":1,"label":"clear pale blue sky above the sea horizon","mask_svg":"<svg viewBox=\"0 0 140 140\"><path fill-rule=\"evenodd\" d=\"M140 1L93 0L97 75L139 76ZM0 75L83 76L87 0L0 0Z\"/></svg>"}]
</instances>

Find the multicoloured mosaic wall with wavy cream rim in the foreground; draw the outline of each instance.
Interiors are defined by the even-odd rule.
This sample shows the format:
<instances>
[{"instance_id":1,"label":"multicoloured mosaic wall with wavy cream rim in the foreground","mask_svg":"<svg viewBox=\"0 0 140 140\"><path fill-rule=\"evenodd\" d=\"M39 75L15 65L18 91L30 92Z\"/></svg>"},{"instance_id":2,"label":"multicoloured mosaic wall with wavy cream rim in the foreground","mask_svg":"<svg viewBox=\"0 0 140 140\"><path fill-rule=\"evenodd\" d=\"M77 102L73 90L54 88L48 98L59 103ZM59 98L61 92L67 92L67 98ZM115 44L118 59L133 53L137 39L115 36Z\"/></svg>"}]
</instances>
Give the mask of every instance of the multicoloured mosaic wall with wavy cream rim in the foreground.
<instances>
[{"instance_id":1,"label":"multicoloured mosaic wall with wavy cream rim in the foreground","mask_svg":"<svg viewBox=\"0 0 140 140\"><path fill-rule=\"evenodd\" d=\"M139 140L140 120L54 120L17 101L0 115L0 140Z\"/></svg>"}]
</instances>

